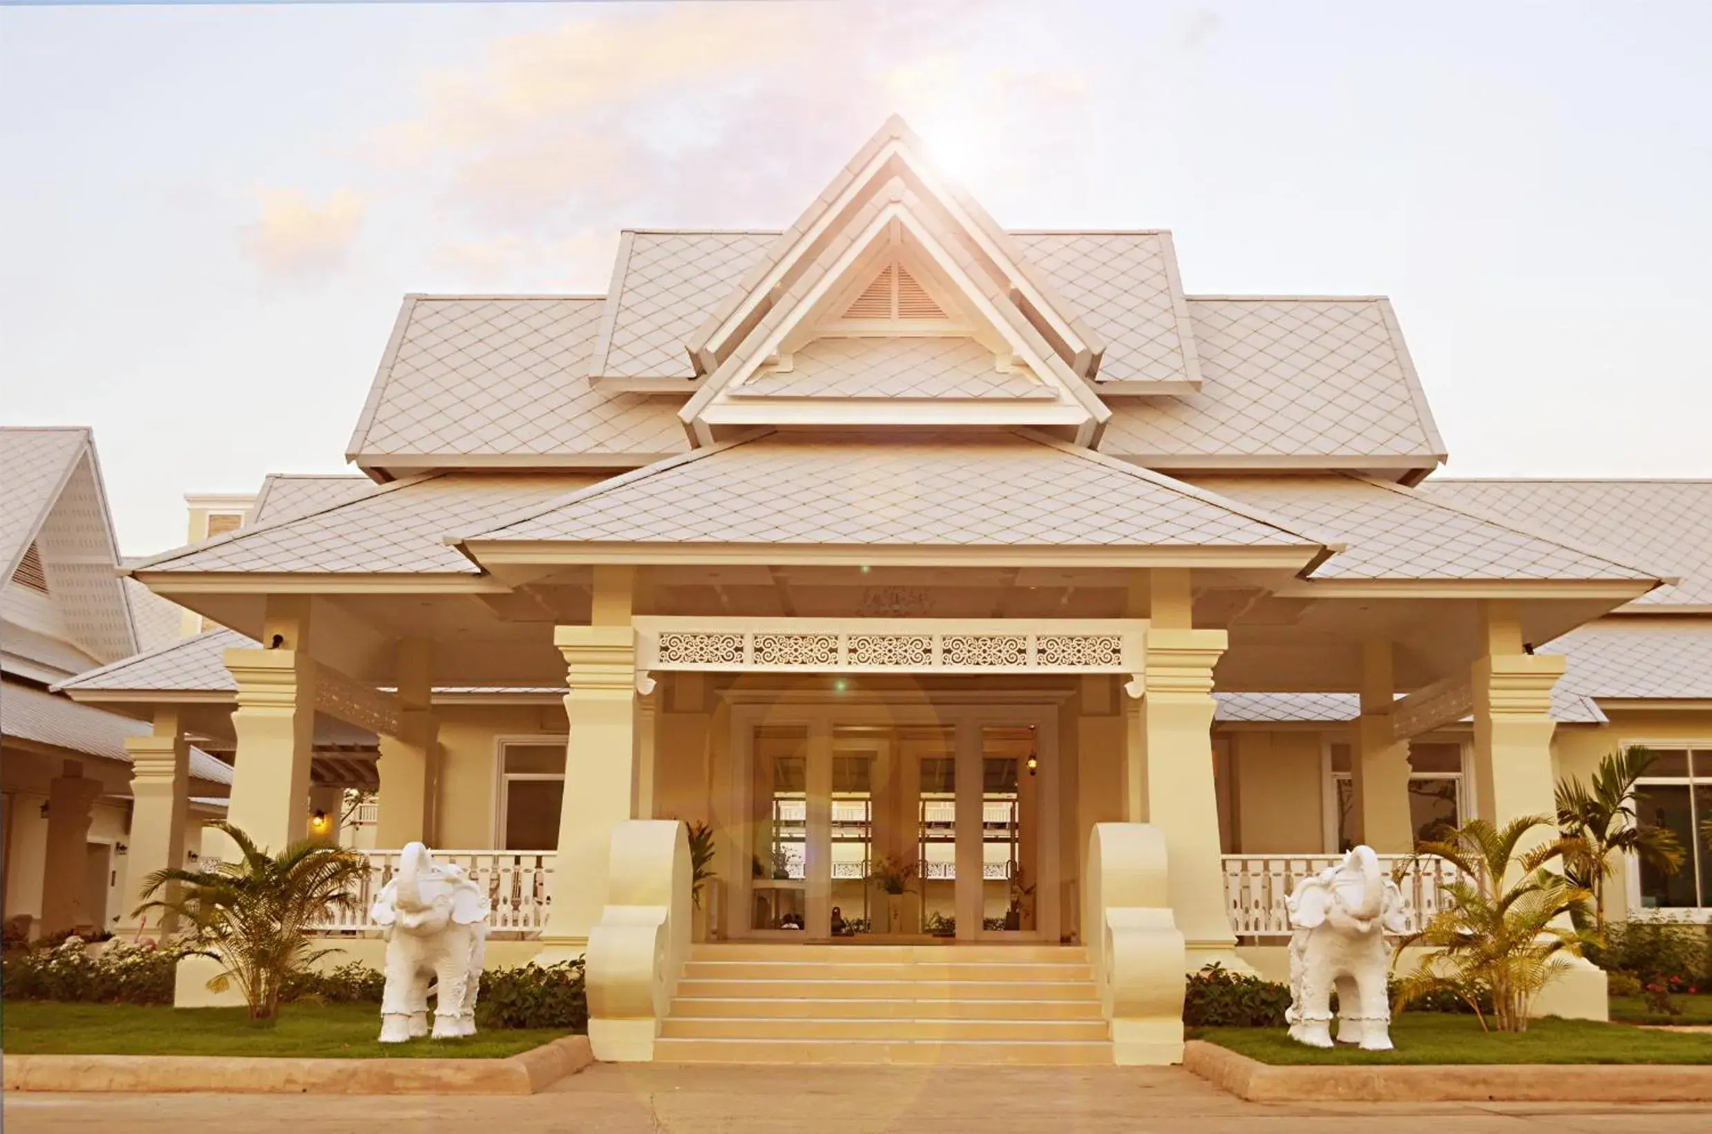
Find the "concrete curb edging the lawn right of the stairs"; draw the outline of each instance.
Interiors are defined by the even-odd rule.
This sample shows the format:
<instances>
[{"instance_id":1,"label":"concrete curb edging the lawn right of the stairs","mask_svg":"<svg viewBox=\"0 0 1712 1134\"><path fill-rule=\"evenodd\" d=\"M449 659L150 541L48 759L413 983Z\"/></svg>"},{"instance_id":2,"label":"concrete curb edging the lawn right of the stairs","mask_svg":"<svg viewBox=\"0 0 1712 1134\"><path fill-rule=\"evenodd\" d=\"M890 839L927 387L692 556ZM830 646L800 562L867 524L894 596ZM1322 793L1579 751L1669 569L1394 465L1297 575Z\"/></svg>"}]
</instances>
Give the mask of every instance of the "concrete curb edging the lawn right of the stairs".
<instances>
[{"instance_id":1,"label":"concrete curb edging the lawn right of the stairs","mask_svg":"<svg viewBox=\"0 0 1712 1134\"><path fill-rule=\"evenodd\" d=\"M1275 1067L1190 1040L1183 1069L1257 1103L1703 1103L1700 1064L1419 1064Z\"/></svg>"}]
</instances>

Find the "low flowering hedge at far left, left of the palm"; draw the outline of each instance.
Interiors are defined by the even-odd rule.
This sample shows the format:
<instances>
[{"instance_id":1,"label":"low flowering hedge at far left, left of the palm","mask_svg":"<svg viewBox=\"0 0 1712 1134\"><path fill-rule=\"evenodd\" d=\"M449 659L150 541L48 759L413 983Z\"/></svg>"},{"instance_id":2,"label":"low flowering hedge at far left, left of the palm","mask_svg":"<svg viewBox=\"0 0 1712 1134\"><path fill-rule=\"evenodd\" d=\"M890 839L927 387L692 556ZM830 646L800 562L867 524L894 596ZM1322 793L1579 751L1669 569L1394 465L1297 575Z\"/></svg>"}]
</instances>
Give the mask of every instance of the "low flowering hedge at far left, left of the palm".
<instances>
[{"instance_id":1,"label":"low flowering hedge at far left, left of the palm","mask_svg":"<svg viewBox=\"0 0 1712 1134\"><path fill-rule=\"evenodd\" d=\"M53 948L19 949L0 961L9 1001L80 1001L92 1004L171 1004L183 949L152 941L115 941L89 956L80 937Z\"/></svg>"}]
</instances>

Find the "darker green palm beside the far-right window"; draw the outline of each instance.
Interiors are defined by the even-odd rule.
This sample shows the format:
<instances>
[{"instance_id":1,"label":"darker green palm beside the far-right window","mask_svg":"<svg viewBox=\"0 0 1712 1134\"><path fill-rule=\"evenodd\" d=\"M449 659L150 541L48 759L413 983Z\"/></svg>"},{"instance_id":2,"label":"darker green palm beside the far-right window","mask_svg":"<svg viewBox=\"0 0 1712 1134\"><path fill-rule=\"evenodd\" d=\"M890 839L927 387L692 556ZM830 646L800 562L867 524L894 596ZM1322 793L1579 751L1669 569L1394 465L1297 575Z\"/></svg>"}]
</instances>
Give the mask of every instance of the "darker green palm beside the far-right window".
<instances>
[{"instance_id":1,"label":"darker green palm beside the far-right window","mask_svg":"<svg viewBox=\"0 0 1712 1134\"><path fill-rule=\"evenodd\" d=\"M1659 758L1645 747L1625 747L1599 761L1590 783L1558 780L1558 828L1572 840L1563 853L1565 876L1592 891L1594 932L1606 930L1606 881L1616 853L1633 853L1661 874L1683 867L1683 847L1669 828L1635 814L1635 780Z\"/></svg>"}]
</instances>

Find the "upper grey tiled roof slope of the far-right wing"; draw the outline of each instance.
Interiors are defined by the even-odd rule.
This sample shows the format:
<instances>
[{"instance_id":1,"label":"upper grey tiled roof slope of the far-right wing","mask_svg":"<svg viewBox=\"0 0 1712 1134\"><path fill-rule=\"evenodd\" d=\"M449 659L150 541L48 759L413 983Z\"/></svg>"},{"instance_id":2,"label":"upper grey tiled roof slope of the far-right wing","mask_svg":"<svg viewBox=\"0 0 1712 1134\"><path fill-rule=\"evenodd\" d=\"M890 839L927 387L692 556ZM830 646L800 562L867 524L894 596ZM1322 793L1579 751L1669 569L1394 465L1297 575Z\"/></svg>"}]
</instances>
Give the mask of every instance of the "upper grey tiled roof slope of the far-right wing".
<instances>
[{"instance_id":1,"label":"upper grey tiled roof slope of the far-right wing","mask_svg":"<svg viewBox=\"0 0 1712 1134\"><path fill-rule=\"evenodd\" d=\"M1679 580L1647 592L1626 609L1712 605L1712 481L1433 477L1421 489L1589 547L1609 547Z\"/></svg>"}]
</instances>

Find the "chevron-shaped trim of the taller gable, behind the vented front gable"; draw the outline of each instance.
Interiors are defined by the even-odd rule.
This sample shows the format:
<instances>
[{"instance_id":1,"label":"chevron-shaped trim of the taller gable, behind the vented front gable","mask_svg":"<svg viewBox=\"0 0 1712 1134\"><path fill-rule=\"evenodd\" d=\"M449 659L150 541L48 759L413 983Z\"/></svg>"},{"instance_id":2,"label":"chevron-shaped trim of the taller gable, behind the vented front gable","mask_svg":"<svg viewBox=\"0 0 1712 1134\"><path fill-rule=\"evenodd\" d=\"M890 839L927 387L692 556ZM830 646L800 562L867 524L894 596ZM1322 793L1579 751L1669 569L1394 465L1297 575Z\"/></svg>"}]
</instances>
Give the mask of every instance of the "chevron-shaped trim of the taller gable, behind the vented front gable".
<instances>
[{"instance_id":1,"label":"chevron-shaped trim of the taller gable, behind the vented front gable","mask_svg":"<svg viewBox=\"0 0 1712 1134\"><path fill-rule=\"evenodd\" d=\"M972 197L933 168L921 140L897 115L880 127L690 339L687 347L695 371L717 371L822 251L839 243L853 217L895 178L902 178L943 210L957 243L1000 286L1005 304L1034 327L1072 373L1094 376L1104 351L1099 337L1046 277L1029 267L1010 234Z\"/></svg>"}]
</instances>

